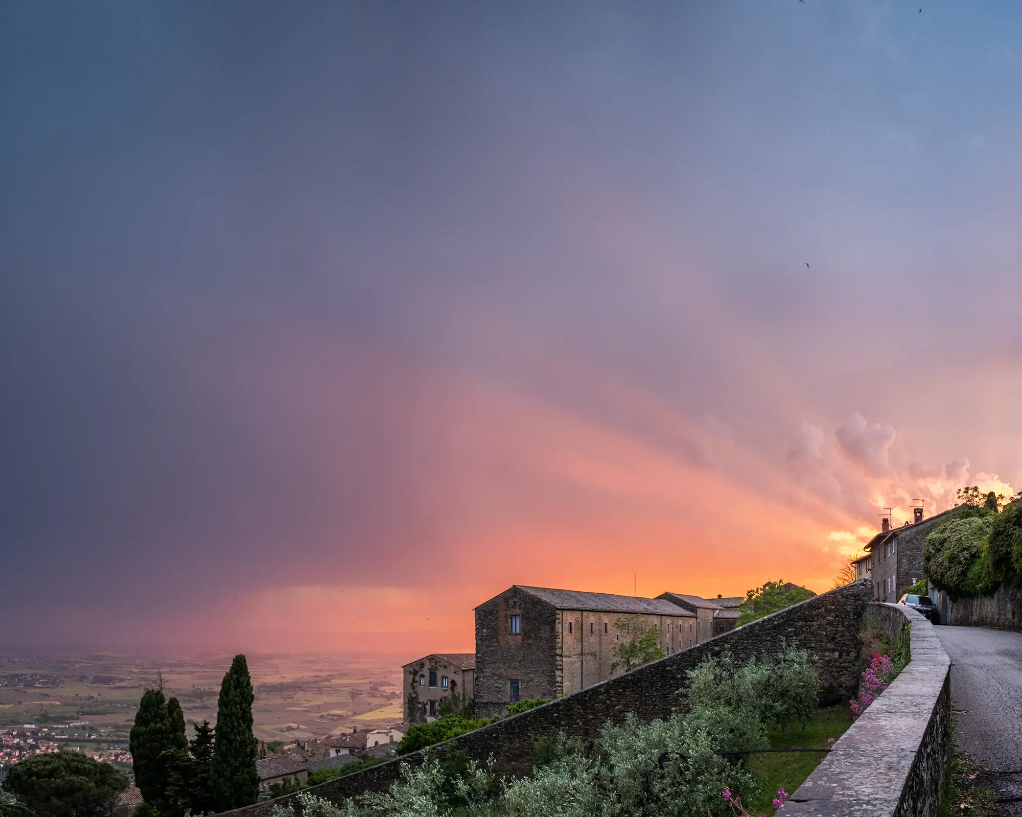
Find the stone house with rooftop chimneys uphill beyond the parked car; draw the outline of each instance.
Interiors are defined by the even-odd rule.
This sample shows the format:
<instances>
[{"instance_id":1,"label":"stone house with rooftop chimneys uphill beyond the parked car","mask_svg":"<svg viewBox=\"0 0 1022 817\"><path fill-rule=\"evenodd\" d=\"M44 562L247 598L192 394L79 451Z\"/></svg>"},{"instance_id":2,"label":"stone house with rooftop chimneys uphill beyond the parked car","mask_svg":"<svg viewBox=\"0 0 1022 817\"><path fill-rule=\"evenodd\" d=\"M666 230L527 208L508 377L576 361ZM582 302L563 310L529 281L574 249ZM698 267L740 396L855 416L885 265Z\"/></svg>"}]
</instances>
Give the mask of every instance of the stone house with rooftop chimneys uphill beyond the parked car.
<instances>
[{"instance_id":1,"label":"stone house with rooftop chimneys uphill beyond the parked car","mask_svg":"<svg viewBox=\"0 0 1022 817\"><path fill-rule=\"evenodd\" d=\"M856 562L855 575L858 578L860 565L869 570L873 579L873 598L876 602L896 602L905 588L923 578L923 547L926 537L959 509L953 508L927 520L923 519L923 509L915 509L915 522L901 527L890 527L884 520L880 533L866 545L868 559Z\"/></svg>"}]
</instances>

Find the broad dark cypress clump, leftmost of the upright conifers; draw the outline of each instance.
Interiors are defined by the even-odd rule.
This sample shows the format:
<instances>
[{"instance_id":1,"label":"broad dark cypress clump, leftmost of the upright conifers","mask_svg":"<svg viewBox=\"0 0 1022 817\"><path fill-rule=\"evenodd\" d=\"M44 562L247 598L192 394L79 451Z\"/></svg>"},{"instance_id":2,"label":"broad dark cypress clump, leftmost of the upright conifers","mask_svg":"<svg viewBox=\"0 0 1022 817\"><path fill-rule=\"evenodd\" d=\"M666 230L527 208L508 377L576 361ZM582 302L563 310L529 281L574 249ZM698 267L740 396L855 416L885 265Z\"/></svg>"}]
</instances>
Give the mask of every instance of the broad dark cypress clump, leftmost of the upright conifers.
<instances>
[{"instance_id":1,"label":"broad dark cypress clump, leftmost of the upright conifers","mask_svg":"<svg viewBox=\"0 0 1022 817\"><path fill-rule=\"evenodd\" d=\"M164 694L160 677L155 689L146 689L135 713L129 735L135 785L146 803L155 806L165 817L184 811L171 794L173 767L188 748L184 713L176 698Z\"/></svg>"}]
</instances>

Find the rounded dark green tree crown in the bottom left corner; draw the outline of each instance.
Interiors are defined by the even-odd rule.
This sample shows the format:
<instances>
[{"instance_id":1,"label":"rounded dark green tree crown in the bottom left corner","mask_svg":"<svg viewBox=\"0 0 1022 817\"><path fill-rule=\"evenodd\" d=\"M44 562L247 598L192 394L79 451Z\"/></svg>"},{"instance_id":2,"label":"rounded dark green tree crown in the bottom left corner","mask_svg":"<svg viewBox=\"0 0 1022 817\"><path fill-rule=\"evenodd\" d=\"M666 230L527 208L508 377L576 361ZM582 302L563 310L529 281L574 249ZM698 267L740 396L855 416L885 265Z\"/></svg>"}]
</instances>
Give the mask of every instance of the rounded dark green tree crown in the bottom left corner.
<instances>
[{"instance_id":1,"label":"rounded dark green tree crown in the bottom left corner","mask_svg":"<svg viewBox=\"0 0 1022 817\"><path fill-rule=\"evenodd\" d=\"M15 763L3 787L39 817L107 817L128 778L88 755L57 752Z\"/></svg>"}]
</instances>

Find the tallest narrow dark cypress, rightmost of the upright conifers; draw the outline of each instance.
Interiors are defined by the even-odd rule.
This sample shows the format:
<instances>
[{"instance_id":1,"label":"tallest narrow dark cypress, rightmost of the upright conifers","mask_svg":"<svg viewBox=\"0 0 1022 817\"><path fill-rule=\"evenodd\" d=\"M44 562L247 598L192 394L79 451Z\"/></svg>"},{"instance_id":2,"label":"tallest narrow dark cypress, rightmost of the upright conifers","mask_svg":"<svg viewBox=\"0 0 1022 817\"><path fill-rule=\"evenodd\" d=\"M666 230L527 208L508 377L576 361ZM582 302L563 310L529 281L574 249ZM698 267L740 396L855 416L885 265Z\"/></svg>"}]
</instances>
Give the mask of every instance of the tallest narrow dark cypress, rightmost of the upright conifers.
<instances>
[{"instance_id":1,"label":"tallest narrow dark cypress, rightmost of the upright conifers","mask_svg":"<svg viewBox=\"0 0 1022 817\"><path fill-rule=\"evenodd\" d=\"M217 703L217 740L210 764L217 811L248 806L259 799L253 701L248 663L244 656L235 656L220 685Z\"/></svg>"}]
</instances>

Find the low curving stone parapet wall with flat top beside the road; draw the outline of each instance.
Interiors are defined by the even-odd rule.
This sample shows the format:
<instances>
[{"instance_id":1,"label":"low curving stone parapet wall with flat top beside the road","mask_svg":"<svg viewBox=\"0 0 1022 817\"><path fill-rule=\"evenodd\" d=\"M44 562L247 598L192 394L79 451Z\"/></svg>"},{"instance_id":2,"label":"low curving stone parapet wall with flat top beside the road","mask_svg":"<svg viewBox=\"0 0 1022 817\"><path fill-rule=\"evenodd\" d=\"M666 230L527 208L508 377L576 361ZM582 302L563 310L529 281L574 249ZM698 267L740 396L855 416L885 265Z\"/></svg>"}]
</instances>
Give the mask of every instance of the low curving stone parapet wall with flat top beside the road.
<instances>
[{"instance_id":1,"label":"low curving stone parapet wall with flat top beside the road","mask_svg":"<svg viewBox=\"0 0 1022 817\"><path fill-rule=\"evenodd\" d=\"M912 661L778 811L780 817L935 817L950 751L950 659L905 607L871 604L864 621L896 642L911 625Z\"/></svg>"}]
</instances>

